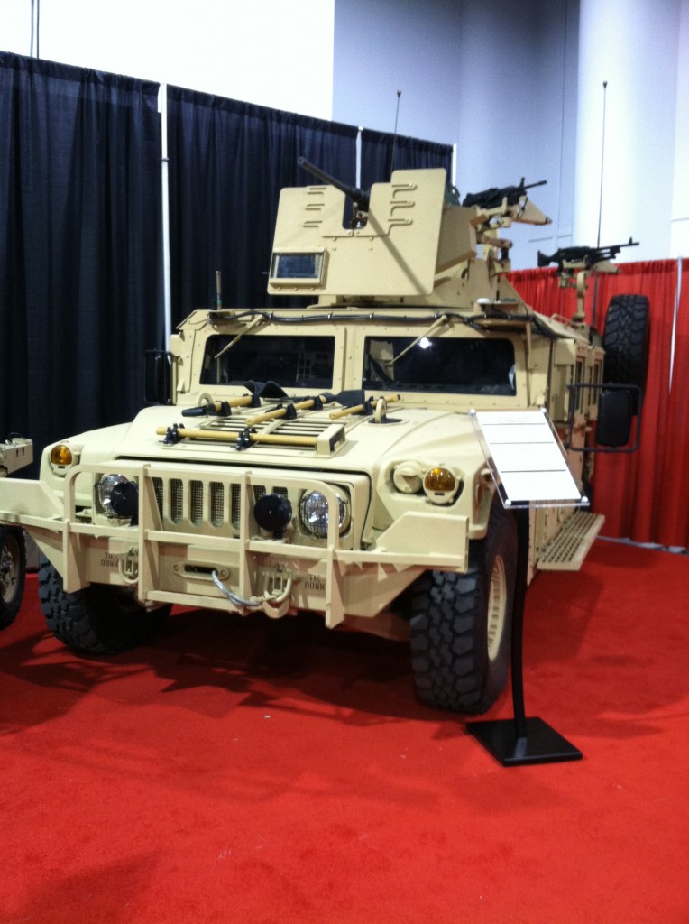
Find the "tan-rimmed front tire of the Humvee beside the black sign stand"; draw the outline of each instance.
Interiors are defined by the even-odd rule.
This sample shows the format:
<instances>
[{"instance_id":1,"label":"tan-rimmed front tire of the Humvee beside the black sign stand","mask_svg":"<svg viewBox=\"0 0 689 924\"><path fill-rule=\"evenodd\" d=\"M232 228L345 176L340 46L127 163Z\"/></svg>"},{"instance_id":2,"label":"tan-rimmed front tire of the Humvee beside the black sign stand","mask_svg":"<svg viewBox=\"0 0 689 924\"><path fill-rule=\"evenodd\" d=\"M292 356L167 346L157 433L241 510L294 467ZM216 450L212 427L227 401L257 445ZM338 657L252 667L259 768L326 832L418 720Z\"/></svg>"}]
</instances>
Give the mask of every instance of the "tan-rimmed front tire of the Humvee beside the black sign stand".
<instances>
[{"instance_id":1,"label":"tan-rimmed front tire of the Humvee beside the black sign stand","mask_svg":"<svg viewBox=\"0 0 689 924\"><path fill-rule=\"evenodd\" d=\"M432 571L412 597L411 650L418 699L435 709L485 712L507 683L517 533L493 503L486 538L471 542L465 574Z\"/></svg>"}]
</instances>

